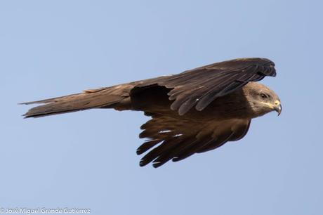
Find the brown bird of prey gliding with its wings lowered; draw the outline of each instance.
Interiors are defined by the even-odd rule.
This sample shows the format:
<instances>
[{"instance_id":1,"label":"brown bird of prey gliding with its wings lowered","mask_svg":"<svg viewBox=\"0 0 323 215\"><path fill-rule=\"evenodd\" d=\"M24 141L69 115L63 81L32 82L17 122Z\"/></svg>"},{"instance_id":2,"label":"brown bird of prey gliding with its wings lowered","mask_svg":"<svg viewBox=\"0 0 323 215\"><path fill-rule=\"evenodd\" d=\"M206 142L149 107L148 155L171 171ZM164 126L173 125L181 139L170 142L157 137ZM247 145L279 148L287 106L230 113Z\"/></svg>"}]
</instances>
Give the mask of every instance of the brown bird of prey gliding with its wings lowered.
<instances>
[{"instance_id":1,"label":"brown bird of prey gliding with its wings lowered","mask_svg":"<svg viewBox=\"0 0 323 215\"><path fill-rule=\"evenodd\" d=\"M23 104L25 117L44 117L91 108L139 110L151 117L141 126L147 138L137 154L140 166L160 167L243 138L251 119L282 112L276 93L257 82L276 76L265 58L239 58L180 74L119 84Z\"/></svg>"}]
</instances>

